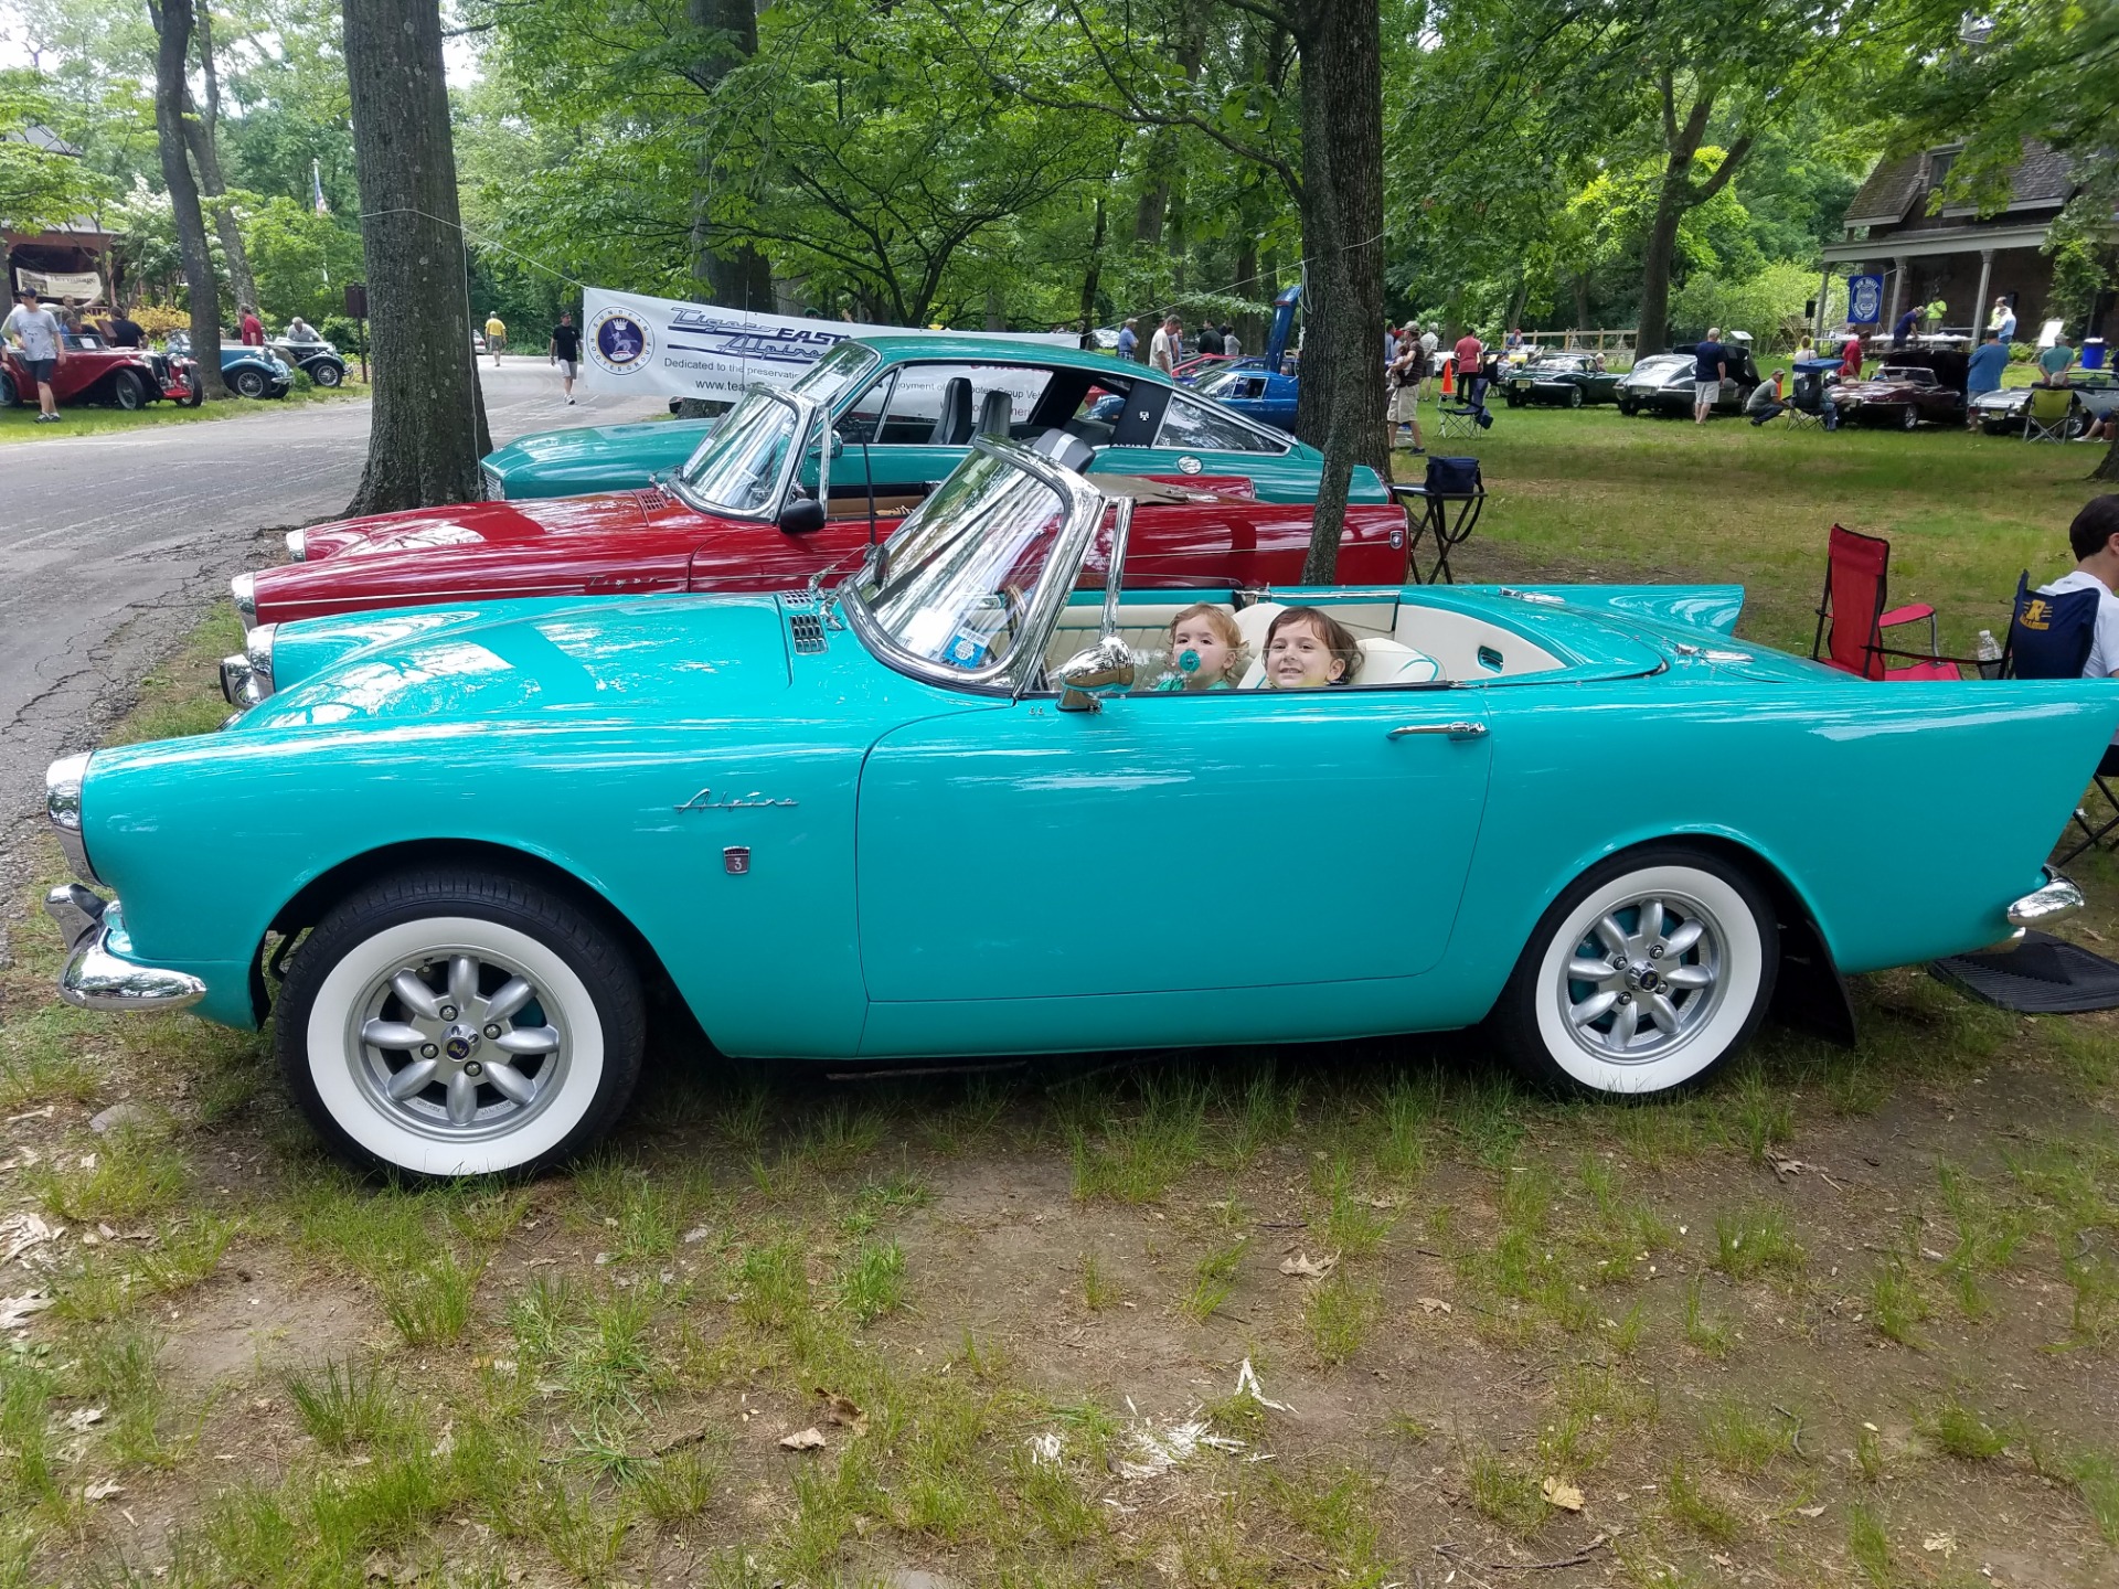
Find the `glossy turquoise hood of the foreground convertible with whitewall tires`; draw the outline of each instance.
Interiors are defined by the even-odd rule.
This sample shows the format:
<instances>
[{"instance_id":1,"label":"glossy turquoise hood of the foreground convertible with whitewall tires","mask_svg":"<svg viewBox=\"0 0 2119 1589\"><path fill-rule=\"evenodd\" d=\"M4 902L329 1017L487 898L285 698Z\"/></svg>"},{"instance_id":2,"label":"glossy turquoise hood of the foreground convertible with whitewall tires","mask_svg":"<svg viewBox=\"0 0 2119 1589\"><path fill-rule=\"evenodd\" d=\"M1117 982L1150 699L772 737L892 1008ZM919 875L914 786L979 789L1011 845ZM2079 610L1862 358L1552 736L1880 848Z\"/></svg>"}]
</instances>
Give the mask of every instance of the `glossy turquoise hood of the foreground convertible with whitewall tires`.
<instances>
[{"instance_id":1,"label":"glossy turquoise hood of the foreground convertible with whitewall tires","mask_svg":"<svg viewBox=\"0 0 2119 1589\"><path fill-rule=\"evenodd\" d=\"M233 729L684 722L752 710L788 686L786 623L771 595L564 597L411 617L280 625L278 691Z\"/></svg>"}]
</instances>

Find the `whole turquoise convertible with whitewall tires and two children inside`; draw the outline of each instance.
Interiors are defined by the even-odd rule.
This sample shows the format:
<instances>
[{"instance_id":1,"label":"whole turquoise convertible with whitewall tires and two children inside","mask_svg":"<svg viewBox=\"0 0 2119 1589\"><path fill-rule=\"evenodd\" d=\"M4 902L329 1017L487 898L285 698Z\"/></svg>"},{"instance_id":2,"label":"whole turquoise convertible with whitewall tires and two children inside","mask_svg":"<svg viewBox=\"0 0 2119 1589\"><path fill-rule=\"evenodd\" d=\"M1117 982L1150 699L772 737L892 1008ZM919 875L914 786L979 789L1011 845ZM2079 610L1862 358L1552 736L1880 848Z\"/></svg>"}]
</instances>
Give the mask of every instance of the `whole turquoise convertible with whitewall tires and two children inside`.
<instances>
[{"instance_id":1,"label":"whole turquoise convertible with whitewall tires and two children inside","mask_svg":"<svg viewBox=\"0 0 2119 1589\"><path fill-rule=\"evenodd\" d=\"M981 441L837 587L282 625L218 733L53 765L61 989L271 1015L341 1157L458 1176L606 1131L655 989L790 1061L1483 1021L1630 1095L2081 907L2108 684L1850 678L1727 587L1129 591L1132 515ZM1168 689L1195 595L1235 689ZM1259 686L1295 606L1350 682Z\"/></svg>"}]
</instances>

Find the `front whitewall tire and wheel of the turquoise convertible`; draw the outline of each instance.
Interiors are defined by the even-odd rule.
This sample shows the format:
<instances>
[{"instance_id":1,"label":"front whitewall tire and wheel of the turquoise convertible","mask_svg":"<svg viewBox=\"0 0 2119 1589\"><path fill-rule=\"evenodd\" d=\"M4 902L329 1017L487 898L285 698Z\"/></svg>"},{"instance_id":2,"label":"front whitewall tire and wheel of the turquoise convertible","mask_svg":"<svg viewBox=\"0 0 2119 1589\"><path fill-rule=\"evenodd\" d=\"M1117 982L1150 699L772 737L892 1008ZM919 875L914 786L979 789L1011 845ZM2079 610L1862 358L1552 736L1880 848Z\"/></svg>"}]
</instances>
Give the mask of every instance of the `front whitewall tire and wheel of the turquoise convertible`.
<instances>
[{"instance_id":1,"label":"front whitewall tire and wheel of the turquoise convertible","mask_svg":"<svg viewBox=\"0 0 2119 1589\"><path fill-rule=\"evenodd\" d=\"M528 1172L581 1153L631 1097L644 1008L625 951L532 883L411 873L301 943L280 1068L331 1150L411 1176Z\"/></svg>"}]
</instances>

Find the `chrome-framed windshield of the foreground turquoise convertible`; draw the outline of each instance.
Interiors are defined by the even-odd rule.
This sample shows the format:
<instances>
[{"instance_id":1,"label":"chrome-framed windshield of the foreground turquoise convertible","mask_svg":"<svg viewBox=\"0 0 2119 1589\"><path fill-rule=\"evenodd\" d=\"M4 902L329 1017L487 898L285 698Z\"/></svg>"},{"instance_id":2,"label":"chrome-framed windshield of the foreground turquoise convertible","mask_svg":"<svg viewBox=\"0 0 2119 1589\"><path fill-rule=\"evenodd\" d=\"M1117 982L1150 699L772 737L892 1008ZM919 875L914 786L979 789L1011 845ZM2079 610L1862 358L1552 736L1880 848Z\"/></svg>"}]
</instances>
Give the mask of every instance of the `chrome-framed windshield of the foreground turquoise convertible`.
<instances>
[{"instance_id":1,"label":"chrome-framed windshield of the foreground turquoise convertible","mask_svg":"<svg viewBox=\"0 0 2119 1589\"><path fill-rule=\"evenodd\" d=\"M841 587L865 631L915 663L1002 672L1057 568L1066 498L1036 475L975 451ZM932 669L922 669L932 672Z\"/></svg>"}]
</instances>

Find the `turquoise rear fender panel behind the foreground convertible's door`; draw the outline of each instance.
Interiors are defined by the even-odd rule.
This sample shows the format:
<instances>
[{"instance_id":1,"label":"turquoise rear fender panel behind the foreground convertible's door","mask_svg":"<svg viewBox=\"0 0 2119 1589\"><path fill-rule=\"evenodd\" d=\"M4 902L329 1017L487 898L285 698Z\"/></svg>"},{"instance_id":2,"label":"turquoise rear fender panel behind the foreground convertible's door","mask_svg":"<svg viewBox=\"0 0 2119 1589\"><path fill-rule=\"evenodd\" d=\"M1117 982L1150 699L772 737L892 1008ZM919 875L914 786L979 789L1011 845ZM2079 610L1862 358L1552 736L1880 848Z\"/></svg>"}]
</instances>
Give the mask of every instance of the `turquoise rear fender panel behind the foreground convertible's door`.
<instances>
[{"instance_id":1,"label":"turquoise rear fender panel behind the foreground convertible's door","mask_svg":"<svg viewBox=\"0 0 2119 1589\"><path fill-rule=\"evenodd\" d=\"M1449 960L1500 994L1545 907L1619 850L1727 839L1776 867L1844 972L2009 934L2102 746L2102 682L1871 684L1678 661L1655 678L1490 686L1494 784Z\"/></svg>"}]
</instances>

